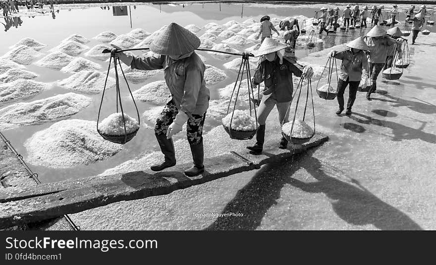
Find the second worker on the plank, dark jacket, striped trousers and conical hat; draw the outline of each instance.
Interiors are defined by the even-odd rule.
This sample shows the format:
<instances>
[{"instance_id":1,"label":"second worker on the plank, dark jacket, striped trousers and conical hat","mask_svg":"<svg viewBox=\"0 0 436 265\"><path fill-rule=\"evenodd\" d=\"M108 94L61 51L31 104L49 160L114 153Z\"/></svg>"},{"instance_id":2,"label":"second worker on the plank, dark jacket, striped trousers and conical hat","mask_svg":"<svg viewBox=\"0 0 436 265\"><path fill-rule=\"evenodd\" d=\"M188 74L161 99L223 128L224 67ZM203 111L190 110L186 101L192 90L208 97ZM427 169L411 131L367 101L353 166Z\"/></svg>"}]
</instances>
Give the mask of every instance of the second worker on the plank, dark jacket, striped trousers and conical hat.
<instances>
[{"instance_id":1,"label":"second worker on the plank, dark jacket, striped trousers and conical hat","mask_svg":"<svg viewBox=\"0 0 436 265\"><path fill-rule=\"evenodd\" d=\"M277 106L280 124L288 122L289 105L292 99L293 83L292 74L297 77L311 79L313 70L310 66L297 64L294 59L284 57L285 44L281 44L270 38L265 39L257 51L256 57L262 56L252 78L254 86L264 82L265 90L258 108L259 127L256 131L256 144L247 146L252 154L260 154L263 150L265 140L265 124L268 115ZM288 141L282 137L279 148L285 149Z\"/></svg>"}]
</instances>

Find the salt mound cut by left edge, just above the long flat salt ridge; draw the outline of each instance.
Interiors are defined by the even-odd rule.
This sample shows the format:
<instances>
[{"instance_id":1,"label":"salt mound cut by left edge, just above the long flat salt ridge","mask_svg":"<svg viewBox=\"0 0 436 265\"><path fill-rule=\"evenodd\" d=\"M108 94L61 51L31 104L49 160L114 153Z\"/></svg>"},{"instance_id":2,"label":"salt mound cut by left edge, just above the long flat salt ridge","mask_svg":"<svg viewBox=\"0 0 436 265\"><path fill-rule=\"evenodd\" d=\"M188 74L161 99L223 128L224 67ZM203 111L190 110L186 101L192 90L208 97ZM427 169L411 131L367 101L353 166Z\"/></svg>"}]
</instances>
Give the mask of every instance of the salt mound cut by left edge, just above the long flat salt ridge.
<instances>
[{"instance_id":1,"label":"salt mound cut by left edge, just above the long flat salt ridge","mask_svg":"<svg viewBox=\"0 0 436 265\"><path fill-rule=\"evenodd\" d=\"M11 101L34 95L49 89L52 85L28 79L18 79L0 84L0 102Z\"/></svg>"}]
</instances>

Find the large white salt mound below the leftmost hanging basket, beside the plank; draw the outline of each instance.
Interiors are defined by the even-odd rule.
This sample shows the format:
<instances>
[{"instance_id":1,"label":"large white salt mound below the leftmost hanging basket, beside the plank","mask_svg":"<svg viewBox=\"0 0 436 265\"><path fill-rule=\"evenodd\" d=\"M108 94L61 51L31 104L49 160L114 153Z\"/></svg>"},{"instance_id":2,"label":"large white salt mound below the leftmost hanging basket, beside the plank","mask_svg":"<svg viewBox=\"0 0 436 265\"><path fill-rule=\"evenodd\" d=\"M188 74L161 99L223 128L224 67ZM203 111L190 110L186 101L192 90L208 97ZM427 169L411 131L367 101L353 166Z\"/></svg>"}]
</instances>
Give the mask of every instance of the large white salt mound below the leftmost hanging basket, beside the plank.
<instances>
[{"instance_id":1,"label":"large white salt mound below the leftmost hanging basket, beside the plank","mask_svg":"<svg viewBox=\"0 0 436 265\"><path fill-rule=\"evenodd\" d=\"M106 160L122 150L97 133L96 122L65 120L34 133L24 143L27 160L34 165L69 168Z\"/></svg>"}]
</instances>

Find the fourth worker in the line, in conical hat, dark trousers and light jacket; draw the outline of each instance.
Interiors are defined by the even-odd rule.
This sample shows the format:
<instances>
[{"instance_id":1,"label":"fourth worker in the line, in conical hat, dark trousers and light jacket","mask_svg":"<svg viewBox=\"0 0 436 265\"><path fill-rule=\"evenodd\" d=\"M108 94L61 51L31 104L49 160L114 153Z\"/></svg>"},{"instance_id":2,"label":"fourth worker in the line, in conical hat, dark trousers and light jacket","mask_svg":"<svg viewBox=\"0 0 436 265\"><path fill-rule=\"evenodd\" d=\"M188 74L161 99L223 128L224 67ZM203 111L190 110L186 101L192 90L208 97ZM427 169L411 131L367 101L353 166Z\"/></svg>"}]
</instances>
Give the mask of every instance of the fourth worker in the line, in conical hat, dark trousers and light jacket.
<instances>
[{"instance_id":1,"label":"fourth worker in the line, in conical hat, dark trousers and light jacket","mask_svg":"<svg viewBox=\"0 0 436 265\"><path fill-rule=\"evenodd\" d=\"M371 99L371 93L377 90L377 78L386 62L387 50L396 42L386 34L382 26L376 25L363 37L370 49L368 62L370 63L371 87L366 94L368 100Z\"/></svg>"}]
</instances>

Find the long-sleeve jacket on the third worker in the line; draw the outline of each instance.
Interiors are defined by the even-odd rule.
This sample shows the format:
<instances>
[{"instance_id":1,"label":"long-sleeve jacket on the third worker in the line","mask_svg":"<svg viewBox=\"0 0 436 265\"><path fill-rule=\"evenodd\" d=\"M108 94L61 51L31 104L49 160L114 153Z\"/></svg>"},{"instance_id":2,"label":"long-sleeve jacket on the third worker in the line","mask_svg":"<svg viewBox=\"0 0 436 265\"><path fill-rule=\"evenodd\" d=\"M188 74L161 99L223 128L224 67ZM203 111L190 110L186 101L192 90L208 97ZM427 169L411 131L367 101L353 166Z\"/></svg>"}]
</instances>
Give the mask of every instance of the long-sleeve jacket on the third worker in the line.
<instances>
[{"instance_id":1,"label":"long-sleeve jacket on the third worker in the line","mask_svg":"<svg viewBox=\"0 0 436 265\"><path fill-rule=\"evenodd\" d=\"M363 50L353 53L351 49L337 52L335 58L342 60L339 78L343 81L362 80L362 69L368 71L368 59ZM386 58L385 58L386 59Z\"/></svg>"}]
</instances>

